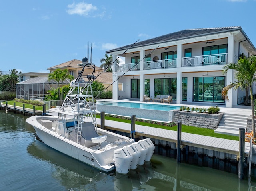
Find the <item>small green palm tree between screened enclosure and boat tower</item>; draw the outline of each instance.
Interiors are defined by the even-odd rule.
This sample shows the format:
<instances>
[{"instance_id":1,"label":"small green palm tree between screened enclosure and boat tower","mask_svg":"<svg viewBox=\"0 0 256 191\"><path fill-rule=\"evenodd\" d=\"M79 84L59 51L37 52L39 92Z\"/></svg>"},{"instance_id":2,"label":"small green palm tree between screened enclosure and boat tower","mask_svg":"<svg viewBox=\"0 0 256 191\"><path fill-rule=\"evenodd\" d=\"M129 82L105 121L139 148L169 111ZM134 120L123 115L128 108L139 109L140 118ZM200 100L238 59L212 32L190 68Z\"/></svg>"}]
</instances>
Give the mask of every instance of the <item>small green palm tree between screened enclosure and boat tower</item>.
<instances>
[{"instance_id":1,"label":"small green palm tree between screened enclosure and boat tower","mask_svg":"<svg viewBox=\"0 0 256 191\"><path fill-rule=\"evenodd\" d=\"M68 78L68 79L74 79L74 77L72 75L70 75L68 73L67 69L61 70L61 69L56 69L53 72L51 72L48 75L48 80L51 81L51 79L54 79L57 83L58 83L58 91L59 91L59 98L60 98L60 102L62 101L62 94L60 93L60 81L62 83L63 86L63 81Z\"/></svg>"}]
</instances>

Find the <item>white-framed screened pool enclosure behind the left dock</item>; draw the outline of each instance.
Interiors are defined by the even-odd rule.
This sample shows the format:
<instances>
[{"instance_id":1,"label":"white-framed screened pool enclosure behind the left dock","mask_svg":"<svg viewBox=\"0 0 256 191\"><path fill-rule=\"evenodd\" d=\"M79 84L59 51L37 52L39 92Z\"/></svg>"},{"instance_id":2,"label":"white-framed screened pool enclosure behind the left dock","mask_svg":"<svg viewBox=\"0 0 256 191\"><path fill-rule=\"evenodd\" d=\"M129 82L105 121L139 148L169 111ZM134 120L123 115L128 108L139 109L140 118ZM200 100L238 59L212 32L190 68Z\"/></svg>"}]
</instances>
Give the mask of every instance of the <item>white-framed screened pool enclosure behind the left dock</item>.
<instances>
[{"instance_id":1,"label":"white-framed screened pool enclosure behind the left dock","mask_svg":"<svg viewBox=\"0 0 256 191\"><path fill-rule=\"evenodd\" d=\"M70 80L64 80L63 85L70 85ZM52 87L58 88L58 83L54 79L49 81L48 77L30 78L16 84L16 98L44 101L47 91Z\"/></svg>"}]
</instances>

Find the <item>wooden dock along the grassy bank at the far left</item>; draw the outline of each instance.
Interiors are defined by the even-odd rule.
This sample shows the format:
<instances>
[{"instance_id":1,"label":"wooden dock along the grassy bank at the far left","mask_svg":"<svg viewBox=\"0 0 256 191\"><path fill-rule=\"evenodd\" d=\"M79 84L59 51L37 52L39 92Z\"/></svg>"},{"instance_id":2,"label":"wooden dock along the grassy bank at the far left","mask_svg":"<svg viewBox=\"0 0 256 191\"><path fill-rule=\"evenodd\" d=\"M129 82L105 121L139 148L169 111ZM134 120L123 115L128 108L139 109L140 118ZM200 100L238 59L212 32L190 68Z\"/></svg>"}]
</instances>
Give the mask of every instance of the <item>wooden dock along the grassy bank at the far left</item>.
<instances>
[{"instance_id":1,"label":"wooden dock along the grassy bank at the far left","mask_svg":"<svg viewBox=\"0 0 256 191\"><path fill-rule=\"evenodd\" d=\"M1 103L1 110L8 110L8 112L14 112L14 113L19 113L19 114L23 114L23 115L28 115L28 116L32 116L32 115L42 115L42 111L40 110L34 110L34 109L29 109L29 108L24 108L24 107L19 107L19 106L14 106L13 105L7 105L6 108L6 104Z\"/></svg>"}]
</instances>

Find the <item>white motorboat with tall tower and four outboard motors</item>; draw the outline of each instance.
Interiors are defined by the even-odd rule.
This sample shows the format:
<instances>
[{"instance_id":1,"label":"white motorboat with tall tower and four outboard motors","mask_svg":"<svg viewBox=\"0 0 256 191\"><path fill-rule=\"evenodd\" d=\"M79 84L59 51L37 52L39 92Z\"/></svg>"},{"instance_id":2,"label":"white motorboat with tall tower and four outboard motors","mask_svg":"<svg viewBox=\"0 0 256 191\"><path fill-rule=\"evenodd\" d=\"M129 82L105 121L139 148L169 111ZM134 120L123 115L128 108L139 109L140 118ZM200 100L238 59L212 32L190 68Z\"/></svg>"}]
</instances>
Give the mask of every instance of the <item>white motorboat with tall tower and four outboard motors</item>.
<instances>
[{"instance_id":1,"label":"white motorboat with tall tower and four outboard motors","mask_svg":"<svg viewBox=\"0 0 256 191\"><path fill-rule=\"evenodd\" d=\"M95 65L87 58L79 65L95 71ZM62 106L49 109L55 116L31 116L26 122L46 145L102 171L116 169L126 174L131 167L150 161L154 144L149 138L135 143L132 138L97 127L91 87L94 71L85 79L81 73L71 81Z\"/></svg>"}]
</instances>

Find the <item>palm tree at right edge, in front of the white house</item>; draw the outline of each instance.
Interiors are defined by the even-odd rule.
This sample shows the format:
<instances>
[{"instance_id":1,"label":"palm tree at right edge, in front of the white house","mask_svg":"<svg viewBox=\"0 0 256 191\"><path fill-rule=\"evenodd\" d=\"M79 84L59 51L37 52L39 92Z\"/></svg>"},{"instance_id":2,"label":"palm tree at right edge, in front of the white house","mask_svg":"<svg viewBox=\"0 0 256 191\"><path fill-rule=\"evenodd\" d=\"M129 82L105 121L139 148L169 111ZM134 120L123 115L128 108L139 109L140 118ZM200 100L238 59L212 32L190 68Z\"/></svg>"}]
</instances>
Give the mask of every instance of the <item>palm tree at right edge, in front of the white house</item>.
<instances>
[{"instance_id":1,"label":"palm tree at right edge, in front of the white house","mask_svg":"<svg viewBox=\"0 0 256 191\"><path fill-rule=\"evenodd\" d=\"M253 131L253 138L255 138L255 120L254 120L254 100L252 94L252 85L256 81L256 56L251 56L249 58L240 57L238 63L228 63L223 68L223 73L226 74L229 69L233 69L236 71L235 78L237 82L232 82L230 85L227 85L222 89L222 96L225 100L228 100L228 90L232 88L244 90L246 88L250 91L251 96L251 107L252 107L252 131Z\"/></svg>"}]
</instances>

